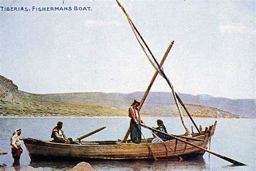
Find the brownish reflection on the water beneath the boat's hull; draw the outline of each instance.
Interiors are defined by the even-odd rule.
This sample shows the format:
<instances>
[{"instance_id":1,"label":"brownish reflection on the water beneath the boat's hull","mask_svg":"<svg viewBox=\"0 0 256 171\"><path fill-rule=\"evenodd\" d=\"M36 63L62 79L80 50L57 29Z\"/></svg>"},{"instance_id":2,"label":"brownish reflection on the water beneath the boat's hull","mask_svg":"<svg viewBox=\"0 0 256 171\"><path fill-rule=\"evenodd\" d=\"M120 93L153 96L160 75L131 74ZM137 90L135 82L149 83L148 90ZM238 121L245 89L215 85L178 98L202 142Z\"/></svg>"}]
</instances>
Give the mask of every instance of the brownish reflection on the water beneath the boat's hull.
<instances>
[{"instance_id":1,"label":"brownish reflection on the water beneath the boat's hull","mask_svg":"<svg viewBox=\"0 0 256 171\"><path fill-rule=\"evenodd\" d=\"M207 169L206 163L201 156L183 161L175 160L84 160L96 170L170 170L170 169ZM30 166L45 169L69 170L81 161L31 161Z\"/></svg>"}]
</instances>

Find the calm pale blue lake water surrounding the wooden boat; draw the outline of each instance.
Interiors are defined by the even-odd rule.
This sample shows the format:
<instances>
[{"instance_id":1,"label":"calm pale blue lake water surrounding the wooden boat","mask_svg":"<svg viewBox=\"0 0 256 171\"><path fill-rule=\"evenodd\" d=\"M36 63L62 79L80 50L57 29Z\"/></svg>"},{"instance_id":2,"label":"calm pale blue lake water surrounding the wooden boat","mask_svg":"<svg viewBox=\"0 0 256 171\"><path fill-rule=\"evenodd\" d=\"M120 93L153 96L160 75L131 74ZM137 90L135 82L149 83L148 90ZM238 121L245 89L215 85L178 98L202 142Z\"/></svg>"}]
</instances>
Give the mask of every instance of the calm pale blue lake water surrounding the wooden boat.
<instances>
[{"instance_id":1,"label":"calm pale blue lake water surrounding the wooden boat","mask_svg":"<svg viewBox=\"0 0 256 171\"><path fill-rule=\"evenodd\" d=\"M156 126L159 118L142 118L149 126ZM179 118L160 117L164 120L167 131L174 134L184 133ZM0 149L8 151L7 155L0 155L0 162L12 167L9 140L11 133L22 129L21 137L50 139L52 127L62 120L63 130L68 137L73 139L91 132L99 127L106 129L87 137L85 140L117 140L123 139L129 126L129 118L0 118ZM215 119L194 118L199 125L208 126ZM205 153L203 158L196 158L182 162L178 161L88 161L96 170L255 170L255 122L256 119L217 119L217 128L211 139L211 150L226 155L235 160L247 163L248 166L232 166L231 163L219 159L214 155L209 158ZM191 126L186 118L187 126ZM195 129L194 129L195 130ZM149 131L143 129L146 137L151 137ZM28 153L22 144L24 153L21 156L21 166L43 167L45 170L68 170L77 165L72 162L30 162Z\"/></svg>"}]
</instances>

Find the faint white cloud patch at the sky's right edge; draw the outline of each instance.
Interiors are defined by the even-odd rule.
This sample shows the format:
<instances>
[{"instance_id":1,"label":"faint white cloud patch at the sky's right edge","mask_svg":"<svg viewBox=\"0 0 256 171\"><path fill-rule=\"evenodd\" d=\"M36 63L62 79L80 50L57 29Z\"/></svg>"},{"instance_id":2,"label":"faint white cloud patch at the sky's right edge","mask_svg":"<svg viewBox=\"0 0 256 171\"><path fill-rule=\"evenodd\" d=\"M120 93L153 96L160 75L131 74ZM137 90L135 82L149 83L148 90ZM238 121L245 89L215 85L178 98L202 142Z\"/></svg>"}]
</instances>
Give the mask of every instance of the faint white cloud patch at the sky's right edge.
<instances>
[{"instance_id":1,"label":"faint white cloud patch at the sky's right edge","mask_svg":"<svg viewBox=\"0 0 256 171\"><path fill-rule=\"evenodd\" d=\"M219 26L219 31L221 33L251 33L255 34L255 30L252 28L248 28L242 25L222 25Z\"/></svg>"}]
</instances>

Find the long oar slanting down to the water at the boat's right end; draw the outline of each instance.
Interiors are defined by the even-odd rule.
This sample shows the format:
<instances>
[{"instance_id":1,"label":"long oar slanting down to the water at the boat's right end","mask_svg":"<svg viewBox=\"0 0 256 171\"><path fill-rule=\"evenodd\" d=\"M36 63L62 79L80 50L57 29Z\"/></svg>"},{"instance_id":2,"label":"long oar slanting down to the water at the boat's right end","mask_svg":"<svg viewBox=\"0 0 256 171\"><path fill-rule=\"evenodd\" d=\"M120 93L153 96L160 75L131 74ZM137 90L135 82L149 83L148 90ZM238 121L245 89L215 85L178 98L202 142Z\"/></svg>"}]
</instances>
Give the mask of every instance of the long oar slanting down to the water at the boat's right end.
<instances>
[{"instance_id":1,"label":"long oar slanting down to the water at the boat's right end","mask_svg":"<svg viewBox=\"0 0 256 171\"><path fill-rule=\"evenodd\" d=\"M210 151L210 150L208 150L208 149L206 149L206 148L200 147L200 146L198 146L198 145L196 145L196 144L192 144L192 143L190 143L190 142L188 142L188 141L185 141L185 140L183 140L183 139L177 138L177 136L173 136L172 134L168 134L168 133L165 133L165 132L162 132L162 131L153 129L152 127L146 126L145 124L141 124L141 125L142 125L143 127L147 127L148 129L151 129L151 130L153 130L153 131L156 131L156 132L159 132L159 133L161 133L161 134L164 134L165 136L169 136L169 137L171 137L171 138L173 138L173 139L177 139L177 140L179 140L179 141L181 141L181 142L183 142L183 143L185 143L185 144L188 144L188 145L191 145L191 146L193 146L193 147L197 147L197 148L199 148L199 149L202 149L202 150L204 150L204 151L206 151L206 152L208 152L208 153L211 153L211 154L213 154L213 155L215 155L215 156L218 156L218 157L221 158L221 159L224 159L224 160L226 160L226 161L228 161L228 162L231 162L231 163L233 163L234 165L237 165L237 166L246 166L245 163L242 163L242 162L236 161L236 160L234 160L234 159L228 158L227 156L220 155L220 154L218 154L218 153L212 152L212 151Z\"/></svg>"}]
</instances>

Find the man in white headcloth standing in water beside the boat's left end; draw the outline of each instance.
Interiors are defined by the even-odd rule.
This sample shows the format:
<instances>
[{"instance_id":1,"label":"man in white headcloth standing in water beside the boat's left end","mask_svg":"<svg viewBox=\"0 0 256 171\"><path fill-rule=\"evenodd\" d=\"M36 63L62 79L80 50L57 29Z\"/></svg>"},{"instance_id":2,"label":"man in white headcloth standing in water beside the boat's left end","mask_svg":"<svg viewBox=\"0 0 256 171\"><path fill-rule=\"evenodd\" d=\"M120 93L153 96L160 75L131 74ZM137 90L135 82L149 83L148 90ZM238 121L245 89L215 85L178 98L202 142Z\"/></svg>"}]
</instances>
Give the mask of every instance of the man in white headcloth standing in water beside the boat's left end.
<instances>
[{"instance_id":1,"label":"man in white headcloth standing in water beside the boat's left end","mask_svg":"<svg viewBox=\"0 0 256 171\"><path fill-rule=\"evenodd\" d=\"M10 145L11 145L11 154L12 158L14 158L14 164L13 165L19 165L19 159L21 158L21 154L23 152L23 149L21 147L21 129L17 129L12 133L12 137L10 139Z\"/></svg>"}]
</instances>

